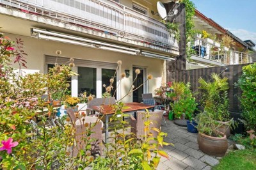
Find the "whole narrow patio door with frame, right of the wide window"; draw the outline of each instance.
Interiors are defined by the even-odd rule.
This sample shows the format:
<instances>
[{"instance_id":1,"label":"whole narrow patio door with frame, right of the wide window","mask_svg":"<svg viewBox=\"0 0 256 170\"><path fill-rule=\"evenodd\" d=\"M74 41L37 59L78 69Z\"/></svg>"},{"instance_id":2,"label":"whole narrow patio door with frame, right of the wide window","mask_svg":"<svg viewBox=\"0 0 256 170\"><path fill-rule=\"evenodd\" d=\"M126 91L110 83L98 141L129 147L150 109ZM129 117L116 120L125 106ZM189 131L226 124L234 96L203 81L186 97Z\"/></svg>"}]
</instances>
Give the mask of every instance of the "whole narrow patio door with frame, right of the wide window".
<instances>
[{"instance_id":1,"label":"whole narrow patio door with frame, right of the wide window","mask_svg":"<svg viewBox=\"0 0 256 170\"><path fill-rule=\"evenodd\" d=\"M137 68L140 69L140 74L138 74L137 79L135 79L136 78L135 70ZM146 68L143 68L140 66L132 67L132 81L135 80L133 83L134 89L140 86L140 88L132 92L132 102L142 102L142 94L147 93L147 83L143 84L143 82L145 82L146 80L145 79L146 72L147 72ZM143 85L141 86L141 84Z\"/></svg>"}]
</instances>

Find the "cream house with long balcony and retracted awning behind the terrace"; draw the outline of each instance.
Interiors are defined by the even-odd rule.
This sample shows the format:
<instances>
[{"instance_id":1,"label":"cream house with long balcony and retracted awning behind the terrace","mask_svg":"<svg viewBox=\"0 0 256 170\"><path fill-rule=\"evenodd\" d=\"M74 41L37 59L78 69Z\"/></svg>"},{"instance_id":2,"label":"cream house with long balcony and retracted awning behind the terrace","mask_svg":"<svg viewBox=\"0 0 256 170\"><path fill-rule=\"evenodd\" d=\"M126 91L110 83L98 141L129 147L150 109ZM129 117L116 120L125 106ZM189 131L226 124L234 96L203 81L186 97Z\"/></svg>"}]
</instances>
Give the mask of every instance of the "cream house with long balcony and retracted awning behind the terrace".
<instances>
[{"instance_id":1,"label":"cream house with long balcony and retracted awning behind the terrace","mask_svg":"<svg viewBox=\"0 0 256 170\"><path fill-rule=\"evenodd\" d=\"M152 93L164 83L165 60L179 55L179 45L156 12L156 1L108 0L0 0L1 31L12 40L22 38L28 54L25 72L46 73L49 67L74 58L72 96L86 91L102 97L103 84L120 73L127 78L117 88L116 98L127 94L134 70L141 73L134 86L152 74L154 79L134 91L124 102L141 102L142 93ZM58 57L56 50L61 50Z\"/></svg>"}]
</instances>

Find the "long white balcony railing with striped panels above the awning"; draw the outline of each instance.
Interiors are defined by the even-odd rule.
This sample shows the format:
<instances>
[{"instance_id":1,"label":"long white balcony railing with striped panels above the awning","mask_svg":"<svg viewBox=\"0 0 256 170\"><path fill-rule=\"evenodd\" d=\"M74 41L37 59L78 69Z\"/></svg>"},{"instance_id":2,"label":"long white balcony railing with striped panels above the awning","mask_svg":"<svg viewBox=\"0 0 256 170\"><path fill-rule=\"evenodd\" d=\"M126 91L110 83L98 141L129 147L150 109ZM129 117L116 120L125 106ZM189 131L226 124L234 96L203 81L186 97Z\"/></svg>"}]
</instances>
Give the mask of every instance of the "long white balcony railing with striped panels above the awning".
<instances>
[{"instance_id":1,"label":"long white balcony railing with striped panels above the awning","mask_svg":"<svg viewBox=\"0 0 256 170\"><path fill-rule=\"evenodd\" d=\"M177 50L179 47L177 40L168 33L163 23L114 1L0 0L0 3L164 49Z\"/></svg>"}]
</instances>

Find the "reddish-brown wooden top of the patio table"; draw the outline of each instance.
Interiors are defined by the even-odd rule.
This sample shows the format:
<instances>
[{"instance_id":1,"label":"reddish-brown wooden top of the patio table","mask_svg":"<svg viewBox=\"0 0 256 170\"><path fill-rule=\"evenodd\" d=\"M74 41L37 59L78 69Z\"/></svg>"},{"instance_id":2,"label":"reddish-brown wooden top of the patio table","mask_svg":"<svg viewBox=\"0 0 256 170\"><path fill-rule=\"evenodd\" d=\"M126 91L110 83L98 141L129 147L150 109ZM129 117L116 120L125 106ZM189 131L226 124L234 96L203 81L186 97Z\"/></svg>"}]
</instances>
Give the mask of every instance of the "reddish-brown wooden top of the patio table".
<instances>
[{"instance_id":1,"label":"reddish-brown wooden top of the patio table","mask_svg":"<svg viewBox=\"0 0 256 170\"><path fill-rule=\"evenodd\" d=\"M155 107L155 105L146 105L137 102L125 103L124 106L129 107L129 109L123 109L122 112L140 111L143 109L150 109ZM115 110L111 105L99 105L93 106L93 110L100 112L102 114L114 114Z\"/></svg>"}]
</instances>

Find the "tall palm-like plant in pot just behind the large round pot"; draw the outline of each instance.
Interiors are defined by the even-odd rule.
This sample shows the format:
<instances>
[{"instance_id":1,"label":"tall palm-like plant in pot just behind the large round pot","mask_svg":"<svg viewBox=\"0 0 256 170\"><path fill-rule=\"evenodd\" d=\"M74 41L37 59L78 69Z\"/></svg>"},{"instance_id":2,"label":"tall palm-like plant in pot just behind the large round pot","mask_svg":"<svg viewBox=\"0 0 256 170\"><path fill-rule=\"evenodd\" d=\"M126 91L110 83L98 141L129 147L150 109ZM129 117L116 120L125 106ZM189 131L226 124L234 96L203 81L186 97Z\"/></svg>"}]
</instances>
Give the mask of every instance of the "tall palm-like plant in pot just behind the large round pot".
<instances>
[{"instance_id":1,"label":"tall palm-like plant in pot just behind the large round pot","mask_svg":"<svg viewBox=\"0 0 256 170\"><path fill-rule=\"evenodd\" d=\"M202 98L200 103L204 111L212 112L214 120L220 123L218 130L223 132L227 137L230 135L230 127L234 127L234 120L230 118L228 111L229 100L227 95L228 78L221 79L216 73L211 74L212 81L205 81L200 77L199 89L201 89Z\"/></svg>"}]
</instances>

